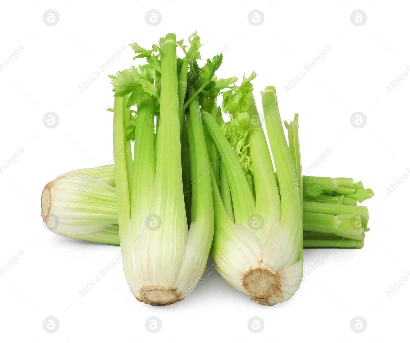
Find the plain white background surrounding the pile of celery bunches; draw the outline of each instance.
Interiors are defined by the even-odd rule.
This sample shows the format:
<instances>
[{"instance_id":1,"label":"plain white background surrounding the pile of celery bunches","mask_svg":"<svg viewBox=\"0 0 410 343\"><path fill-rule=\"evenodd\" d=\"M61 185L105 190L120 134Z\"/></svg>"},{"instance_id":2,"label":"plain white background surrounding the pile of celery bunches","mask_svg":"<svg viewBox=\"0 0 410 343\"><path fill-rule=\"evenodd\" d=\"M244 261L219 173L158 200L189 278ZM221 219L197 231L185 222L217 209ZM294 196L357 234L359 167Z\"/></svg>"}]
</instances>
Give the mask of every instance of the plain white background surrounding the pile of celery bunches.
<instances>
[{"instance_id":1,"label":"plain white background surrounding the pile of celery bunches","mask_svg":"<svg viewBox=\"0 0 410 343\"><path fill-rule=\"evenodd\" d=\"M24 254L0 277L0 340L4 342L393 342L408 341L410 281L390 296L386 291L410 270L408 190L387 187L404 173L408 155L410 77L388 93L386 86L410 65L405 1L43 1L2 2L0 63L24 50L0 73L2 135L0 165L18 148L24 152L0 175L2 235L0 267ZM162 14L155 27L148 10ZM54 9L59 23L47 26L43 13ZM252 26L248 13L260 9L264 23ZM367 22L355 26L355 9ZM218 77L259 73L259 92L276 86L282 119L300 114L303 167L326 148L331 153L312 175L353 177L375 191L365 202L371 231L361 250L331 249L326 262L308 276L295 296L263 307L231 289L213 271L184 301L151 307L137 302L121 264L80 298L78 291L120 252L117 246L66 239L46 231L40 195L63 172L104 165L112 158L112 87L107 74L128 68L132 40L143 47L167 32L187 39L194 31L203 58L224 51ZM91 86L79 86L116 50L118 61ZM323 61L287 93L296 77L327 45ZM228 49L226 49L226 47ZM225 47L225 48L224 48ZM43 115L59 116L49 129ZM367 117L362 129L350 117ZM307 270L325 250L305 250ZM59 320L45 332L44 318ZM156 316L162 329L145 328ZM248 320L258 316L264 329L255 334ZM355 333L355 316L367 321Z\"/></svg>"}]
</instances>

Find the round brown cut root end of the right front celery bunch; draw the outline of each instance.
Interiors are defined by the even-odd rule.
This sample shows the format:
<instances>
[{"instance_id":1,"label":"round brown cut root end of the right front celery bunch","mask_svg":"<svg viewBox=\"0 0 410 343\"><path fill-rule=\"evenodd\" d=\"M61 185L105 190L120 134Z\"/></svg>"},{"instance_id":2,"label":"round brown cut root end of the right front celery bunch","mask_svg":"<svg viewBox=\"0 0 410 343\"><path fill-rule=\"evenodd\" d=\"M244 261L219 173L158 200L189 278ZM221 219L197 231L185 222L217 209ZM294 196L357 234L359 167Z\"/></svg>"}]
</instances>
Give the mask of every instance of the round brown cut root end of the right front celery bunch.
<instances>
[{"instance_id":1,"label":"round brown cut root end of the right front celery bunch","mask_svg":"<svg viewBox=\"0 0 410 343\"><path fill-rule=\"evenodd\" d=\"M278 273L269 266L258 265L251 266L242 274L241 287L258 300L265 300L278 296L281 282Z\"/></svg>"}]
</instances>

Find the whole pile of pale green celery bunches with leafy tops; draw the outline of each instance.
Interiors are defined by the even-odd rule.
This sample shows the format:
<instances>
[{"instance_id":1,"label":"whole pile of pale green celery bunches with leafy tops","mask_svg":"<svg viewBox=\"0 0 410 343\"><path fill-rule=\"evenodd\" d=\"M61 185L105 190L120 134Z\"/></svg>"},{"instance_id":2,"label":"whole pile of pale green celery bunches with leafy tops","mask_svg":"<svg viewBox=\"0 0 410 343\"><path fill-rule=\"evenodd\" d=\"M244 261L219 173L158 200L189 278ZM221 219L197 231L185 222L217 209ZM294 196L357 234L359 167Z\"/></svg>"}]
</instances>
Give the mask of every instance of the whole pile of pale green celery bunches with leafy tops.
<instances>
[{"instance_id":1,"label":"whole pile of pale green celery bunches with leafy tops","mask_svg":"<svg viewBox=\"0 0 410 343\"><path fill-rule=\"evenodd\" d=\"M130 44L146 64L109 75L112 162L48 183L43 221L57 235L121 245L130 290L150 305L185 299L209 253L254 302L288 300L303 248L363 247L369 211L358 203L374 193L352 178L302 176L299 115L284 122L286 139L273 86L261 92L262 120L257 74L218 79L222 54L199 67L196 32L188 43L167 34L151 49Z\"/></svg>"}]
</instances>

